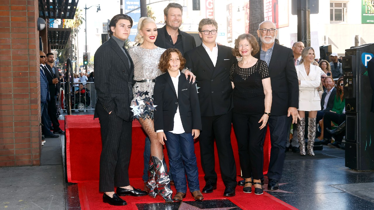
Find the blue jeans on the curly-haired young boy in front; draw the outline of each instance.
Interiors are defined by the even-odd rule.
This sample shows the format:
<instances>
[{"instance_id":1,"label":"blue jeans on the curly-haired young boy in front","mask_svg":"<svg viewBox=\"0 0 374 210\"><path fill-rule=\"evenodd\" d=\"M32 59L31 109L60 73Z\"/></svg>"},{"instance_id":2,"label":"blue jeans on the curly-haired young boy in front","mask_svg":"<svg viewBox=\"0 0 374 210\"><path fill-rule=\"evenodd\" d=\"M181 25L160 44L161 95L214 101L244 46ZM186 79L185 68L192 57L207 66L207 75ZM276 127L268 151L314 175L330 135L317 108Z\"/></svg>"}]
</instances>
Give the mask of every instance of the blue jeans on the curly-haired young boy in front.
<instances>
[{"instance_id":1,"label":"blue jeans on the curly-haired young boy in front","mask_svg":"<svg viewBox=\"0 0 374 210\"><path fill-rule=\"evenodd\" d=\"M186 193L187 191L185 172L190 192L200 190L193 136L191 133L174 134L171 132L165 132L165 136L168 139L165 144L177 192Z\"/></svg>"}]
</instances>

